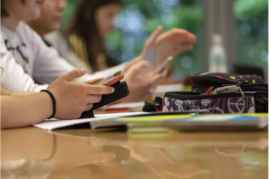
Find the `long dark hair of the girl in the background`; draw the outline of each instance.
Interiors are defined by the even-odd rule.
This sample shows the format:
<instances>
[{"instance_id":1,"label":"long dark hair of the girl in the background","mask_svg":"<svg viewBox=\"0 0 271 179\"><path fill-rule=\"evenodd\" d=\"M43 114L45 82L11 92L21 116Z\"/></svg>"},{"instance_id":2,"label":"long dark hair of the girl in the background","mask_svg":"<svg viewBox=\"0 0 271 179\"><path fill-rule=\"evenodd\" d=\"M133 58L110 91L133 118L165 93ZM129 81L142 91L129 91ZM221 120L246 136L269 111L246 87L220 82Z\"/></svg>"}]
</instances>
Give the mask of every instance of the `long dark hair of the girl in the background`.
<instances>
[{"instance_id":1,"label":"long dark hair of the girl in the background","mask_svg":"<svg viewBox=\"0 0 271 179\"><path fill-rule=\"evenodd\" d=\"M81 0L78 1L76 12L67 25L63 34L66 38L75 34L86 43L86 50L88 53L88 60L92 66L93 71L96 69L96 57L98 53L106 55L107 66L114 66L114 62L107 55L103 44L103 39L99 34L97 24L95 22L95 12L98 8L108 4L122 5L120 0ZM89 14L87 14L88 12Z\"/></svg>"}]
</instances>

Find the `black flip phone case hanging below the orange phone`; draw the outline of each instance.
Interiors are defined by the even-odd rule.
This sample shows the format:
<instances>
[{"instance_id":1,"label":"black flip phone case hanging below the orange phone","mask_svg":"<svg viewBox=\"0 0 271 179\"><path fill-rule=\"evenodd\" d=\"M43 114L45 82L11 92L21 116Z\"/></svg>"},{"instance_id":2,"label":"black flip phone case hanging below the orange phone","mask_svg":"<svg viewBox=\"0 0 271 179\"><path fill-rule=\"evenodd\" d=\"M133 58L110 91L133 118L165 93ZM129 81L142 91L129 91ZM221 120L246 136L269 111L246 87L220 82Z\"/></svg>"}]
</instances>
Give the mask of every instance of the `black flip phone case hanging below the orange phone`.
<instances>
[{"instance_id":1,"label":"black flip phone case hanging below the orange phone","mask_svg":"<svg viewBox=\"0 0 271 179\"><path fill-rule=\"evenodd\" d=\"M93 118L93 111L95 109L101 108L104 105L110 104L111 102L117 101L129 95L129 89L126 81L119 81L111 86L115 88L114 93L102 95L101 101L94 103L93 108L90 111L84 111L79 119Z\"/></svg>"}]
</instances>

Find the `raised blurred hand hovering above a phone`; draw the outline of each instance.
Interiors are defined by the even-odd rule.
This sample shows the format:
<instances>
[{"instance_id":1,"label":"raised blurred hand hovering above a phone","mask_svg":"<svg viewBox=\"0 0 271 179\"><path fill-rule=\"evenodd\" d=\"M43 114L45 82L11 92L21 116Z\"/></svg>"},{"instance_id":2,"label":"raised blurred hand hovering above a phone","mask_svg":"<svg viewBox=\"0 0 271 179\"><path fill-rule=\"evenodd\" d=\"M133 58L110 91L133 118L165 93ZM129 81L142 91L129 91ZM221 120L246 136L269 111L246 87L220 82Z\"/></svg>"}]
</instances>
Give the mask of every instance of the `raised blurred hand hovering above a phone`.
<instances>
[{"instance_id":1,"label":"raised blurred hand hovering above a phone","mask_svg":"<svg viewBox=\"0 0 271 179\"><path fill-rule=\"evenodd\" d=\"M162 27L159 26L145 42L140 56L152 64L159 65L169 56L193 49L192 43L195 42L196 36L187 30L173 28L162 33Z\"/></svg>"}]
</instances>

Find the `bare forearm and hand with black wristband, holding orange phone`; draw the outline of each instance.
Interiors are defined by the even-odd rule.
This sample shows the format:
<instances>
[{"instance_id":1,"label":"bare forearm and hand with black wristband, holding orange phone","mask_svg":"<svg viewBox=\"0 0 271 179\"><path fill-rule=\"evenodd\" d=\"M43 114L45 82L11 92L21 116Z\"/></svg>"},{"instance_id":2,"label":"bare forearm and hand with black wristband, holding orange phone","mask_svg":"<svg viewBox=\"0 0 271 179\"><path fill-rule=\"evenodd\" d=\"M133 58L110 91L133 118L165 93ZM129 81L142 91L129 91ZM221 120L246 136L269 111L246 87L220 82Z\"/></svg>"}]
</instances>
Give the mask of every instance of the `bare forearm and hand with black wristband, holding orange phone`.
<instances>
[{"instance_id":1,"label":"bare forearm and hand with black wristband, holding orange phone","mask_svg":"<svg viewBox=\"0 0 271 179\"><path fill-rule=\"evenodd\" d=\"M82 83L71 82L85 73L86 69L82 69L62 75L48 86L47 91L49 92L11 93L1 87L1 129L29 126L50 117L79 118L83 111L90 110L93 103L101 100L102 94L114 92L114 88L111 86L92 85L102 78ZM2 74L5 74L5 69ZM55 114L53 113L53 99L49 93L55 99Z\"/></svg>"}]
</instances>

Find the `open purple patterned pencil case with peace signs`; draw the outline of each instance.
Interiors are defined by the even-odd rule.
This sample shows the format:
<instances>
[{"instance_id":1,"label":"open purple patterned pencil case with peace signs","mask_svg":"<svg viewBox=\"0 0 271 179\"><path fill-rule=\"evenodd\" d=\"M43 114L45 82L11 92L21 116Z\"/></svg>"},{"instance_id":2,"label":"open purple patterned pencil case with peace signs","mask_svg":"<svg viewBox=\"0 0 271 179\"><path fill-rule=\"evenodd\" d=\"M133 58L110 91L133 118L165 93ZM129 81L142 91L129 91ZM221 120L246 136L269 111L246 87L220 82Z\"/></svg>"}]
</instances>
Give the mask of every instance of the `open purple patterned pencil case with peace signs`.
<instances>
[{"instance_id":1,"label":"open purple patterned pencil case with peace signs","mask_svg":"<svg viewBox=\"0 0 271 179\"><path fill-rule=\"evenodd\" d=\"M200 92L167 92L163 111L198 111L205 114L268 112L268 92L220 93L202 95Z\"/></svg>"}]
</instances>

